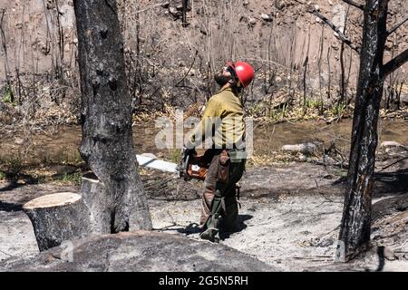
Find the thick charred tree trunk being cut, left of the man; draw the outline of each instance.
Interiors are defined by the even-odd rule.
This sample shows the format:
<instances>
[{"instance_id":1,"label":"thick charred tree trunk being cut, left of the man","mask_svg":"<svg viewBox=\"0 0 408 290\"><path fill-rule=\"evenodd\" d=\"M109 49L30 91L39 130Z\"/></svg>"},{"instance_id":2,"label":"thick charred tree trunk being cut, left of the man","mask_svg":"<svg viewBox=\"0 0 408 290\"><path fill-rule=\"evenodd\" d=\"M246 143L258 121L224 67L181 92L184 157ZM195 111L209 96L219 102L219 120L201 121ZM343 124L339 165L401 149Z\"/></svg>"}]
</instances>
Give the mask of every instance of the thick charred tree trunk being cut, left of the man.
<instances>
[{"instance_id":1,"label":"thick charred tree trunk being cut, left of the man","mask_svg":"<svg viewBox=\"0 0 408 290\"><path fill-rule=\"evenodd\" d=\"M96 208L109 213L112 233L151 229L132 140L131 97L116 1L76 0L73 5L82 89L80 152L103 184L98 194L105 200L102 209Z\"/></svg>"}]
</instances>

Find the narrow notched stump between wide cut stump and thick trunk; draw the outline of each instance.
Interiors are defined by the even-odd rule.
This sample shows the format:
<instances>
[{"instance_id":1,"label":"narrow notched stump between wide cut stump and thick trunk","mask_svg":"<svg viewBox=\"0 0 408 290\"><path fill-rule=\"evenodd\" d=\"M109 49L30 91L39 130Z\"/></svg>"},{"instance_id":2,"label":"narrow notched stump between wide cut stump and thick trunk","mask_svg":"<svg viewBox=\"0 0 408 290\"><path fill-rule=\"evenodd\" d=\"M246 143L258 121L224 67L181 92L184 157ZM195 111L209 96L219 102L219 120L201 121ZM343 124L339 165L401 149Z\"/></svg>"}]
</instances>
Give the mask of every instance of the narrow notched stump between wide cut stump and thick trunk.
<instances>
[{"instance_id":1,"label":"narrow notched stump between wide cut stump and thick trunk","mask_svg":"<svg viewBox=\"0 0 408 290\"><path fill-rule=\"evenodd\" d=\"M102 182L92 173L83 175L83 185L79 194L90 211L90 230L92 234L111 234L112 216L109 205L113 200L108 200Z\"/></svg>"}]
</instances>

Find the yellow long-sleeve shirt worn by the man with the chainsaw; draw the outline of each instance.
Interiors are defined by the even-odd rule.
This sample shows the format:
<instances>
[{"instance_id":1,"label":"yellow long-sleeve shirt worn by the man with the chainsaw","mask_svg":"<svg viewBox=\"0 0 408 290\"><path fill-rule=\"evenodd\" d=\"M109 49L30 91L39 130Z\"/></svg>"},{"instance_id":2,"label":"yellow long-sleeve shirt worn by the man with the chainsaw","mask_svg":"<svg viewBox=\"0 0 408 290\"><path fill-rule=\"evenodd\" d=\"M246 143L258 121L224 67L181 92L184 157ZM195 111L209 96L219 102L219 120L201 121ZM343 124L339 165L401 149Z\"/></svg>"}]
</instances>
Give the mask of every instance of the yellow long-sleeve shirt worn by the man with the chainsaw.
<instances>
[{"instance_id":1,"label":"yellow long-sleeve shirt worn by the man with the chainsaw","mask_svg":"<svg viewBox=\"0 0 408 290\"><path fill-rule=\"evenodd\" d=\"M199 124L189 136L188 147L211 138L215 148L242 147L245 140L244 107L231 88L224 88L207 103Z\"/></svg>"}]
</instances>

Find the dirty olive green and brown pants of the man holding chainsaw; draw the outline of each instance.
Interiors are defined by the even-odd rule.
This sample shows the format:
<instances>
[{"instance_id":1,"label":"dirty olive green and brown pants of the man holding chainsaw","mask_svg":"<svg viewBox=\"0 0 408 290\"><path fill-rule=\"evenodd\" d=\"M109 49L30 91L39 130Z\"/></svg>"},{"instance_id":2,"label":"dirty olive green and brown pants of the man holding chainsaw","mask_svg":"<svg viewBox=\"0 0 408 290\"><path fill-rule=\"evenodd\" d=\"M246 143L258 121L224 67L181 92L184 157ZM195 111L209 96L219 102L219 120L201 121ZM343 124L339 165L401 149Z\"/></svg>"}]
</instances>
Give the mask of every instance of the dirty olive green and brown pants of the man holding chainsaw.
<instances>
[{"instance_id":1,"label":"dirty olive green and brown pants of the man holding chainsaw","mask_svg":"<svg viewBox=\"0 0 408 290\"><path fill-rule=\"evenodd\" d=\"M220 162L220 152L209 164L204 180L200 226L204 232L200 237L213 242L219 241L219 230L231 232L238 228L237 182L245 170L246 156L243 150L229 150L228 168ZM224 170L224 172L222 172ZM228 170L226 178L225 170Z\"/></svg>"}]
</instances>

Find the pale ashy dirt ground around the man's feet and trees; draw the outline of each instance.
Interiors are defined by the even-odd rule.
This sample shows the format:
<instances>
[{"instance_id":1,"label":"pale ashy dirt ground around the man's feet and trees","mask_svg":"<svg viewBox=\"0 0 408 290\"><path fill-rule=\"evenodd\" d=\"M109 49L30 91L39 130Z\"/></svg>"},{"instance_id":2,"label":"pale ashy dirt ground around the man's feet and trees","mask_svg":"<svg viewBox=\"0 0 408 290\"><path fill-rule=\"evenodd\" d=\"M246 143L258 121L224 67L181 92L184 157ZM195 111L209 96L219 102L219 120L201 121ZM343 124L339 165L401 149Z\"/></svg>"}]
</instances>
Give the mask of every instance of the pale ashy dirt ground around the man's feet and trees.
<instances>
[{"instance_id":1,"label":"pale ashy dirt ground around the man's feet and trees","mask_svg":"<svg viewBox=\"0 0 408 290\"><path fill-rule=\"evenodd\" d=\"M382 166L381 162L378 166ZM384 176L376 176L374 247L347 264L334 262L345 188L343 179L335 175L337 171L335 167L306 162L248 169L242 179L239 230L224 234L221 243L281 271L408 271L408 207L401 209L400 205L393 210L392 203L384 203L395 198L407 200L406 169L394 166ZM179 198L170 193L150 194L154 230L199 239L199 186L177 182L197 195L184 195L183 190ZM22 205L32 198L67 190L78 188L0 183L0 263L12 256L23 258L38 253L33 227ZM381 202L387 206L375 207ZM403 217L395 219L395 213ZM380 249L384 250L382 255Z\"/></svg>"}]
</instances>

